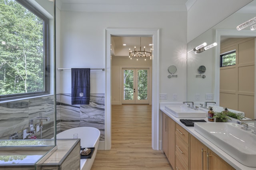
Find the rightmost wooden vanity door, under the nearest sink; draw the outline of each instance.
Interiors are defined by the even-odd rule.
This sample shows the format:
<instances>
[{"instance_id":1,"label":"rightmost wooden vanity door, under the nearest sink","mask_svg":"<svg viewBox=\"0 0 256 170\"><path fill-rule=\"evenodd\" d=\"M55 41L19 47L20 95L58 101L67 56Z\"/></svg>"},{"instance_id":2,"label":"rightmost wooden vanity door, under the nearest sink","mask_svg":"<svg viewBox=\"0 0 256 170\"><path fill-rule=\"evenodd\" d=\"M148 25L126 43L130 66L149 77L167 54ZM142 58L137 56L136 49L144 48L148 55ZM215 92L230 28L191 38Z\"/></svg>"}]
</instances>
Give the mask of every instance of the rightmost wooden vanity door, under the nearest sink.
<instances>
[{"instance_id":1,"label":"rightmost wooden vanity door, under the nearest sink","mask_svg":"<svg viewBox=\"0 0 256 170\"><path fill-rule=\"evenodd\" d=\"M217 154L212 152L212 150L208 149L209 154L209 170L235 170L232 166L230 166L227 162L225 162L222 158L220 158Z\"/></svg>"}]
</instances>

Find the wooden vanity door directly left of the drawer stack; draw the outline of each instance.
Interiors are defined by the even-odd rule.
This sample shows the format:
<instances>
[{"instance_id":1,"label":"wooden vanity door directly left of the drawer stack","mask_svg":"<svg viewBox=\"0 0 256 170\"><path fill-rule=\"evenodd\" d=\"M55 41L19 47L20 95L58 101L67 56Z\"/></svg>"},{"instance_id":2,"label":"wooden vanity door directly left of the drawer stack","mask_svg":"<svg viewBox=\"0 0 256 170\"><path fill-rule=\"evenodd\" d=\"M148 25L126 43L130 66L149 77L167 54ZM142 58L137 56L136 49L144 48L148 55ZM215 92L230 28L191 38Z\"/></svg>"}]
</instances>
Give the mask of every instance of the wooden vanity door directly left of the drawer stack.
<instances>
[{"instance_id":1,"label":"wooden vanity door directly left of the drawer stack","mask_svg":"<svg viewBox=\"0 0 256 170\"><path fill-rule=\"evenodd\" d=\"M168 117L168 160L175 167L175 121Z\"/></svg>"}]
</instances>

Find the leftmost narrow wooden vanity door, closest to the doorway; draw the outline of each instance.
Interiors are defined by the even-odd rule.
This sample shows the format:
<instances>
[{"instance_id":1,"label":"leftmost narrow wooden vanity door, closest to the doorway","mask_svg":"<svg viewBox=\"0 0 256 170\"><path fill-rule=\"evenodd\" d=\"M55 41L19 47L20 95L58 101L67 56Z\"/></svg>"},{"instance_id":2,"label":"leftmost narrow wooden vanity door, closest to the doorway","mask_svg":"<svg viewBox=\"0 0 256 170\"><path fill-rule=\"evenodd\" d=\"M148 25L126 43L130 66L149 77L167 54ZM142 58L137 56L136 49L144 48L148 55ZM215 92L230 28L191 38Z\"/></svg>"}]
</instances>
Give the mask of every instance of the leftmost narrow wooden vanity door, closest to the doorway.
<instances>
[{"instance_id":1,"label":"leftmost narrow wooden vanity door, closest to the doorway","mask_svg":"<svg viewBox=\"0 0 256 170\"><path fill-rule=\"evenodd\" d=\"M162 134L163 134L163 142L162 142L162 147L163 151L168 158L168 116L163 113L163 120L162 120Z\"/></svg>"}]
</instances>

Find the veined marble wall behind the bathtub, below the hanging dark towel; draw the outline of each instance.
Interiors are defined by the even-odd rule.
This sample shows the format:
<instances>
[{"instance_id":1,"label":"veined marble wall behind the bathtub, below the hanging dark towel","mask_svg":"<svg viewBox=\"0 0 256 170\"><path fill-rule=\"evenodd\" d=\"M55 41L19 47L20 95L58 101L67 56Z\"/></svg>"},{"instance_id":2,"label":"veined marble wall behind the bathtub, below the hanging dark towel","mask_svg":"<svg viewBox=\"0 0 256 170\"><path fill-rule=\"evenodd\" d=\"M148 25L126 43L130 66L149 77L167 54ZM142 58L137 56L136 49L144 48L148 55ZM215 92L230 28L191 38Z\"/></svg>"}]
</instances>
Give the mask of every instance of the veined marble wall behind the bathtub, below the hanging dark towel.
<instances>
[{"instance_id":1,"label":"veined marble wall behind the bathtub, below the hanging dark towel","mask_svg":"<svg viewBox=\"0 0 256 170\"><path fill-rule=\"evenodd\" d=\"M105 139L105 95L91 94L89 105L71 105L71 94L58 94L57 134L75 127L95 127Z\"/></svg>"}]
</instances>

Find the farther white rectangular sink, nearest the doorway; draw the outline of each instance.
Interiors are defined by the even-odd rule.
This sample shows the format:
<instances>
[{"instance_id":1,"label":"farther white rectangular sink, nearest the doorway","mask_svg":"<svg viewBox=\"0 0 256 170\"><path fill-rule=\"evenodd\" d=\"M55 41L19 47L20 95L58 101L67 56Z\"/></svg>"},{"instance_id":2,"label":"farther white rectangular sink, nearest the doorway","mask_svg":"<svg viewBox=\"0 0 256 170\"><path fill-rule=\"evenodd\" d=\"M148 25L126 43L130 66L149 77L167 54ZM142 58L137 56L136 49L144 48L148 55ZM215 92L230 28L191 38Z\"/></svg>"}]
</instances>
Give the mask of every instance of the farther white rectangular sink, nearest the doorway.
<instances>
[{"instance_id":1,"label":"farther white rectangular sink, nearest the doorway","mask_svg":"<svg viewBox=\"0 0 256 170\"><path fill-rule=\"evenodd\" d=\"M166 105L166 111L178 118L205 118L206 112L195 110L186 105Z\"/></svg>"}]
</instances>

